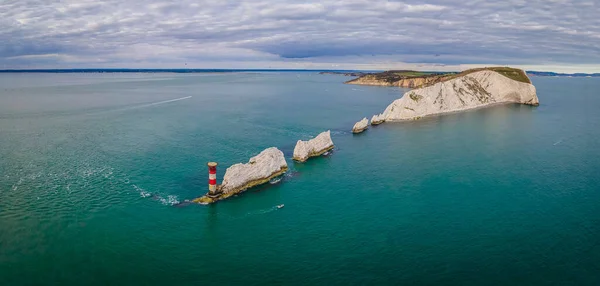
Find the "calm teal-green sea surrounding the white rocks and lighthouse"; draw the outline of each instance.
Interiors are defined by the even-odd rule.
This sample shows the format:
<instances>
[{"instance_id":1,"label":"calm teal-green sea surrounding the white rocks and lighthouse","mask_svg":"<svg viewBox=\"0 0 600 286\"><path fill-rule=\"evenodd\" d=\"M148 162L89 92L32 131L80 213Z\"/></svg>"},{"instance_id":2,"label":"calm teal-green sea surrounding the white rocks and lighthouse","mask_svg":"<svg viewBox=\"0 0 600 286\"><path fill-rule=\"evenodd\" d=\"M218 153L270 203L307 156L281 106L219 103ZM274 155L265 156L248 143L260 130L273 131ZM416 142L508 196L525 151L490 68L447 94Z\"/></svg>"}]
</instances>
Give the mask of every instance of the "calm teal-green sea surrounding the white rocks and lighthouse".
<instances>
[{"instance_id":1,"label":"calm teal-green sea surrounding the white rocks and lighthouse","mask_svg":"<svg viewBox=\"0 0 600 286\"><path fill-rule=\"evenodd\" d=\"M347 79L0 74L0 285L600 285L600 78L360 135L406 90ZM279 184L185 203L272 146Z\"/></svg>"}]
</instances>

